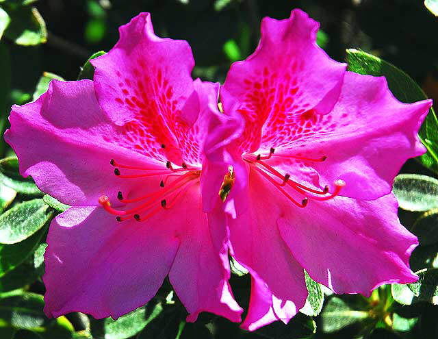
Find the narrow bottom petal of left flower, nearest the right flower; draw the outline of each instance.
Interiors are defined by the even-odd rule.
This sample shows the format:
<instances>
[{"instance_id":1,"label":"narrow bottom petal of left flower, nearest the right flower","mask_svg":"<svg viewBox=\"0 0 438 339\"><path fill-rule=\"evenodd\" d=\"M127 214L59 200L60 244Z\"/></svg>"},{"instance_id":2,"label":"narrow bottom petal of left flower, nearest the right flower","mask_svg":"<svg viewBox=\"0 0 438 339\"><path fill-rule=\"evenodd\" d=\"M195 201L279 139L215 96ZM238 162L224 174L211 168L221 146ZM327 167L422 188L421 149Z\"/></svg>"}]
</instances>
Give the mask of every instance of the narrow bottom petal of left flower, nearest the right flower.
<instances>
[{"instance_id":1,"label":"narrow bottom petal of left flower, nearest the right flower","mask_svg":"<svg viewBox=\"0 0 438 339\"><path fill-rule=\"evenodd\" d=\"M192 186L187 194L193 198L171 211L179 215L177 238L181 245L170 269L170 282L190 313L188 321L196 321L200 312L212 312L240 322L243 310L234 300L228 284L224 214L218 209L215 214L209 214L207 220L198 189Z\"/></svg>"}]
</instances>

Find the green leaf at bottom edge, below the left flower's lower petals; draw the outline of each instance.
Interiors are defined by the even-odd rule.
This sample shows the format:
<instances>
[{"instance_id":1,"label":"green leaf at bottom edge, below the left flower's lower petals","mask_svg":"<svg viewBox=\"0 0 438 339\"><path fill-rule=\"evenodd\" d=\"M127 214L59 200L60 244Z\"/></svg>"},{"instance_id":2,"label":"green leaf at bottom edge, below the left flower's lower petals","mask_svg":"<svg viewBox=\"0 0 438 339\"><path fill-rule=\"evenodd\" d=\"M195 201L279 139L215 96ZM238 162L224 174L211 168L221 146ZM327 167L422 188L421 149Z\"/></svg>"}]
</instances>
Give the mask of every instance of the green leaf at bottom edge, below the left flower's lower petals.
<instances>
[{"instance_id":1,"label":"green leaf at bottom edge, below the left flower's lower petals","mask_svg":"<svg viewBox=\"0 0 438 339\"><path fill-rule=\"evenodd\" d=\"M121 316L116 321L112 318L105 318L101 321L92 320L92 335L104 339L125 339L135 336L163 310L160 303L149 304Z\"/></svg>"}]
</instances>

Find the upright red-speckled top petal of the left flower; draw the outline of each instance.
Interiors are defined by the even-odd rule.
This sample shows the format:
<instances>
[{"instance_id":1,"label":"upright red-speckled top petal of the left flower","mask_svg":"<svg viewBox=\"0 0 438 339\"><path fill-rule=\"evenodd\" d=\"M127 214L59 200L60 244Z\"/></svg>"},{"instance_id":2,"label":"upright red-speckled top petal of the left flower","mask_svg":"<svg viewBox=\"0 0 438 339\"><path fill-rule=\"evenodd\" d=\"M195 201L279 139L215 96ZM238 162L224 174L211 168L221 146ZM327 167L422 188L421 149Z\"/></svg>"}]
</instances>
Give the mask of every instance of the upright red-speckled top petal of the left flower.
<instances>
[{"instance_id":1,"label":"upright red-speckled top petal of the left flower","mask_svg":"<svg viewBox=\"0 0 438 339\"><path fill-rule=\"evenodd\" d=\"M159 154L166 145L166 158L181 164L177 122L194 90L188 42L158 38L151 15L142 13L120 27L111 51L91 62L101 107L114 123L129 129L136 149ZM197 105L196 98L189 103Z\"/></svg>"}]
</instances>

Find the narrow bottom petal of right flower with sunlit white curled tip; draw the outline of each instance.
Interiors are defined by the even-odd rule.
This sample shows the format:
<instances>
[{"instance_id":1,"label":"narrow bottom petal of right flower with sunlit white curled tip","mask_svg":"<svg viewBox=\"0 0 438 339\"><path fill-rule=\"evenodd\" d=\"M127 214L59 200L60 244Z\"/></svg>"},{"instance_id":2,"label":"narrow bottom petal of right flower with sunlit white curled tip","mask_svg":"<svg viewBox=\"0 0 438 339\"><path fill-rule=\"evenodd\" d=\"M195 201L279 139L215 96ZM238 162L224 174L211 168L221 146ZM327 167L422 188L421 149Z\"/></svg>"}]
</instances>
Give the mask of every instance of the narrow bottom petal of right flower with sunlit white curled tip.
<instances>
[{"instance_id":1,"label":"narrow bottom petal of right flower with sunlit white curled tip","mask_svg":"<svg viewBox=\"0 0 438 339\"><path fill-rule=\"evenodd\" d=\"M254 310L250 320L245 322L248 327L259 321L258 316L264 318L270 314L270 307L276 318L287 322L304 306L307 298L304 270L283 242L276 226L276 219L282 213L282 206L277 204L278 194L259 173L251 168L249 171L248 190L235 192L227 199L225 208L229 214L232 254L255 279L255 295L251 297L250 306ZM245 210L234 202L244 199L248 200ZM233 207L237 209L234 212ZM272 315L266 319L269 321L261 321L262 325L265 321L273 321Z\"/></svg>"}]
</instances>

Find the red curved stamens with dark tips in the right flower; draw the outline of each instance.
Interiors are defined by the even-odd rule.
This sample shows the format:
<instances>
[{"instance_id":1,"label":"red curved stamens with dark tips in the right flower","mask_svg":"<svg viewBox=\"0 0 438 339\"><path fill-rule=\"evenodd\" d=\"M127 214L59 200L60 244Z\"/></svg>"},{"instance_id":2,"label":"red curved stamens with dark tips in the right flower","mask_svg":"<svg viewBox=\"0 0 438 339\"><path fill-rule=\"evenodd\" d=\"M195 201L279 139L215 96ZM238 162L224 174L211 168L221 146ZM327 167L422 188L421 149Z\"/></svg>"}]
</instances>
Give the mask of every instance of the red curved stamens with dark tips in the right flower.
<instances>
[{"instance_id":1,"label":"red curved stamens with dark tips in the right flower","mask_svg":"<svg viewBox=\"0 0 438 339\"><path fill-rule=\"evenodd\" d=\"M242 156L243 160L249 162L253 165L253 168L259 172L263 177L265 177L272 185L276 187L289 201L292 201L299 208L305 208L309 199L315 201L325 201L329 199L333 199L336 197L340 190L346 185L344 180L338 179L334 183L334 188L331 190L329 186L325 186L322 190L315 190L314 188L310 188L303 184L300 184L297 181L290 179L290 175L288 173L281 174L279 171L269 164L266 164L264 160L268 160L274 155L275 149L271 148L268 155L253 155L253 154L244 154ZM294 158L298 160L305 160L310 162L324 162L327 157L322 156L321 158L305 158L301 156L287 155L288 158ZM280 179L281 181L279 181ZM301 201L297 201L294 197L287 192L287 188L292 188L295 192L301 194L303 199Z\"/></svg>"}]
</instances>

